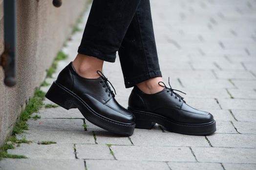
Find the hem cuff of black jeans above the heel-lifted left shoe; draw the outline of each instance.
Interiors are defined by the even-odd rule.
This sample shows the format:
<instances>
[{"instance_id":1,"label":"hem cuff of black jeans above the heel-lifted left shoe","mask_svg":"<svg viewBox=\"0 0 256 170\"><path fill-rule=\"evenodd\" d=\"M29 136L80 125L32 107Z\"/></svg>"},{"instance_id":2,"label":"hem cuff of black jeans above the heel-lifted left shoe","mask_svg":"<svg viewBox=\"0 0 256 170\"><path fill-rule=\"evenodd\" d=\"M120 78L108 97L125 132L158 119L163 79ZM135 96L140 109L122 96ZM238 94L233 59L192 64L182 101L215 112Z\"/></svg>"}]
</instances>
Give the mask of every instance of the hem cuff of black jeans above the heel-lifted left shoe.
<instances>
[{"instance_id":1,"label":"hem cuff of black jeans above the heel-lifted left shoe","mask_svg":"<svg viewBox=\"0 0 256 170\"><path fill-rule=\"evenodd\" d=\"M101 59L101 60L104 60L104 61L107 61L110 63L114 63L115 59L116 59L116 55L104 54L104 53L100 52L99 50L91 48L91 47L81 47L80 46L78 48L77 52L80 54L96 57L98 59Z\"/></svg>"}]
</instances>

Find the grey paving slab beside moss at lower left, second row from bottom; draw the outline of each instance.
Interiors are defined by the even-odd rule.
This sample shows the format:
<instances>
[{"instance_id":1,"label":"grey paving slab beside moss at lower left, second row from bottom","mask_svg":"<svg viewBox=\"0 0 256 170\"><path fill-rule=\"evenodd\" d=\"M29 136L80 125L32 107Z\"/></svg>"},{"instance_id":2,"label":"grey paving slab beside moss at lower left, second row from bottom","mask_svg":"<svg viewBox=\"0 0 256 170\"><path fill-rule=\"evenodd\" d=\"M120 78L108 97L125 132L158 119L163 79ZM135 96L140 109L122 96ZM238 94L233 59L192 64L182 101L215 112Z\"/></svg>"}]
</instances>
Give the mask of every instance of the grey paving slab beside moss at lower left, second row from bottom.
<instances>
[{"instance_id":1,"label":"grey paving slab beside moss at lower left, second row from bottom","mask_svg":"<svg viewBox=\"0 0 256 170\"><path fill-rule=\"evenodd\" d=\"M39 145L36 143L22 143L14 150L7 150L9 154L25 155L29 159L75 159L73 144Z\"/></svg>"}]
</instances>

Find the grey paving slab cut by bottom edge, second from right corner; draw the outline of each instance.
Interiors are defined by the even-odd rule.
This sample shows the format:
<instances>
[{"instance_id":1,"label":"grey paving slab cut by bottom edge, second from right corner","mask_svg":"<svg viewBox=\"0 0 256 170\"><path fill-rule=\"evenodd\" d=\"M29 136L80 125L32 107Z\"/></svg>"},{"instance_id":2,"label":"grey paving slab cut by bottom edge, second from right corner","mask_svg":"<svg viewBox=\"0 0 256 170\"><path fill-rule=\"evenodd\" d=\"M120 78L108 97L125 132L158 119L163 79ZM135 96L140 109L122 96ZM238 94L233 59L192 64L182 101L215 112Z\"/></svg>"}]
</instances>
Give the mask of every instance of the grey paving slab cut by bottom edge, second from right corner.
<instances>
[{"instance_id":1,"label":"grey paving slab cut by bottom edge, second from right corner","mask_svg":"<svg viewBox=\"0 0 256 170\"><path fill-rule=\"evenodd\" d=\"M220 163L168 162L171 170L223 170Z\"/></svg>"}]
</instances>

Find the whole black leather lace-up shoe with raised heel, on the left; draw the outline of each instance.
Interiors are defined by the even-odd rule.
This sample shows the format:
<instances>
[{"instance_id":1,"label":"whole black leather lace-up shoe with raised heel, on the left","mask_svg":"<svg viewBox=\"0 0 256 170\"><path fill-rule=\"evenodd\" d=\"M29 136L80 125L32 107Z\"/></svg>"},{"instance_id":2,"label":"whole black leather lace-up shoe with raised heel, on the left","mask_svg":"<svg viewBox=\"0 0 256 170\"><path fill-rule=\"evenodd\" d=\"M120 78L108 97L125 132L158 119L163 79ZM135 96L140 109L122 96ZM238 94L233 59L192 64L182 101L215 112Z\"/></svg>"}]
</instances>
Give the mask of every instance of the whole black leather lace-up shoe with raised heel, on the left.
<instances>
[{"instance_id":1,"label":"whole black leather lace-up shoe with raised heel, on the left","mask_svg":"<svg viewBox=\"0 0 256 170\"><path fill-rule=\"evenodd\" d=\"M100 76L97 79L81 77L71 62L60 72L45 97L67 110L78 108L85 119L103 129L132 135L135 128L133 114L115 100L102 72L97 73Z\"/></svg>"}]
</instances>

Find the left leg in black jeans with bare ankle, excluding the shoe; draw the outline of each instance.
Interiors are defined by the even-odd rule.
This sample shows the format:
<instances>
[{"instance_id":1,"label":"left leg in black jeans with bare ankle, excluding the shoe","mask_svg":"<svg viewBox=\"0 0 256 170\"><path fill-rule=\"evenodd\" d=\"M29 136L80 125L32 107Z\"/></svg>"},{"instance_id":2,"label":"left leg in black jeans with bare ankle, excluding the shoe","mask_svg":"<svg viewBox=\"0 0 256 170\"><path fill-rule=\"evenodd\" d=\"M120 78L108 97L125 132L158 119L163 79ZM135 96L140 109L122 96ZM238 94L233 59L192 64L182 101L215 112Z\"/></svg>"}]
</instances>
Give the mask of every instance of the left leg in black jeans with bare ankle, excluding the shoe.
<instances>
[{"instance_id":1,"label":"left leg in black jeans with bare ankle, excluding the shoe","mask_svg":"<svg viewBox=\"0 0 256 170\"><path fill-rule=\"evenodd\" d=\"M97 77L103 61L114 62L140 0L93 0L85 32L73 62L87 78Z\"/></svg>"}]
</instances>

